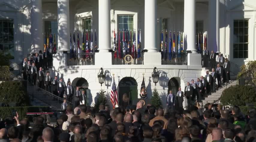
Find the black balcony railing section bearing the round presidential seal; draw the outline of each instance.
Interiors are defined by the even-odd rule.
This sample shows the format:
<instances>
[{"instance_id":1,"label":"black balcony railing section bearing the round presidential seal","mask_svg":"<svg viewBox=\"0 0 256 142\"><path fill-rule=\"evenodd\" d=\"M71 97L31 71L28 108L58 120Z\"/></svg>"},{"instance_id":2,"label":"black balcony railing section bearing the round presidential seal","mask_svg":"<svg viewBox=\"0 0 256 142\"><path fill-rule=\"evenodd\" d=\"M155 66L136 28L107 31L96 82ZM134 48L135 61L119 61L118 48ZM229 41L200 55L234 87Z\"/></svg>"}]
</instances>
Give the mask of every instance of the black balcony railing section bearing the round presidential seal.
<instances>
[{"instance_id":1,"label":"black balcony railing section bearing the round presidential seal","mask_svg":"<svg viewBox=\"0 0 256 142\"><path fill-rule=\"evenodd\" d=\"M126 55L131 55L131 62L126 62L124 57ZM144 64L144 53L135 52L135 53L122 53L118 55L118 53L112 53L112 65L141 65Z\"/></svg>"}]
</instances>

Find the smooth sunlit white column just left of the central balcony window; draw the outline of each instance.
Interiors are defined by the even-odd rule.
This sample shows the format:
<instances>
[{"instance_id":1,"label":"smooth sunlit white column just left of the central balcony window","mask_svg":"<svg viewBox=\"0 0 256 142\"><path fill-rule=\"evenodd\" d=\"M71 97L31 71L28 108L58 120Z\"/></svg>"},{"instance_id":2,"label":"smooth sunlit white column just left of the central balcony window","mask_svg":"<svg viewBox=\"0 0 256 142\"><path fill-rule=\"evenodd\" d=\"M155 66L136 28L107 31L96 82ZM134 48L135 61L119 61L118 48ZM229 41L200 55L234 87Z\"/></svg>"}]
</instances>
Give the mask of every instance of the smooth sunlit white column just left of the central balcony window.
<instances>
[{"instance_id":1,"label":"smooth sunlit white column just left of the central balcony window","mask_svg":"<svg viewBox=\"0 0 256 142\"><path fill-rule=\"evenodd\" d=\"M110 0L99 0L99 50L109 52L110 43Z\"/></svg>"}]
</instances>

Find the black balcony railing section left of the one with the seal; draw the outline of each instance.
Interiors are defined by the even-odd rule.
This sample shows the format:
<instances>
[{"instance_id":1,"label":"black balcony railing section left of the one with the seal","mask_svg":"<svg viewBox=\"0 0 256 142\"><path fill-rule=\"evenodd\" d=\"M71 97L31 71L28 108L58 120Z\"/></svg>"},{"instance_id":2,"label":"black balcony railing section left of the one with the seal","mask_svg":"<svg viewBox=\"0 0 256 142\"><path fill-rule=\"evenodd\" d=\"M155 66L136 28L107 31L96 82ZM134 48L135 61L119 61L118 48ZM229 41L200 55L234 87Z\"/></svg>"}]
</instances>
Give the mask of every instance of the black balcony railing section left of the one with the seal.
<instances>
[{"instance_id":1,"label":"black balcony railing section left of the one with the seal","mask_svg":"<svg viewBox=\"0 0 256 142\"><path fill-rule=\"evenodd\" d=\"M94 65L95 53L80 53L77 55L67 53L67 65Z\"/></svg>"}]
</instances>

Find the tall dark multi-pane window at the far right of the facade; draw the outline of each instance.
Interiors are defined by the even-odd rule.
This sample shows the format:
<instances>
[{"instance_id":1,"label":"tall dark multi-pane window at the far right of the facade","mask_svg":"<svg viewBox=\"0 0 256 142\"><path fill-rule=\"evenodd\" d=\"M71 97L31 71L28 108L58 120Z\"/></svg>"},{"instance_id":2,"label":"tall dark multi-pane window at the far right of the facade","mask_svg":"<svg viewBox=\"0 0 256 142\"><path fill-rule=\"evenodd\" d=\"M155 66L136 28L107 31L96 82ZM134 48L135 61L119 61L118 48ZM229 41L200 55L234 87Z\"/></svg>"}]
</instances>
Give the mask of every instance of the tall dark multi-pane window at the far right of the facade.
<instances>
[{"instance_id":1,"label":"tall dark multi-pane window at the far right of the facade","mask_svg":"<svg viewBox=\"0 0 256 142\"><path fill-rule=\"evenodd\" d=\"M234 20L233 58L248 58L249 20Z\"/></svg>"}]
</instances>

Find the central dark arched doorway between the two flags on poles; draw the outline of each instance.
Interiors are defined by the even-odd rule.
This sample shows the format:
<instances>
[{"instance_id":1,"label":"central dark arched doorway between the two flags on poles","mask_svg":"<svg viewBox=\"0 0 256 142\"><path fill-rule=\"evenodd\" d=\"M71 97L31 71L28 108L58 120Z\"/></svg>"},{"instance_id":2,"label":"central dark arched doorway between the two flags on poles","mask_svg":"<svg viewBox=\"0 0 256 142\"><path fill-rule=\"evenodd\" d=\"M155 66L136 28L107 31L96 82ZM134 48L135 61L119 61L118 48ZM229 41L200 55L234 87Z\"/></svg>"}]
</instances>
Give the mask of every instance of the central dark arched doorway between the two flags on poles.
<instances>
[{"instance_id":1,"label":"central dark arched doorway between the two flags on poles","mask_svg":"<svg viewBox=\"0 0 256 142\"><path fill-rule=\"evenodd\" d=\"M129 103L123 103L123 95L128 95ZM126 108L127 105L135 104L138 101L138 84L132 77L124 77L118 83L118 104Z\"/></svg>"}]
</instances>

